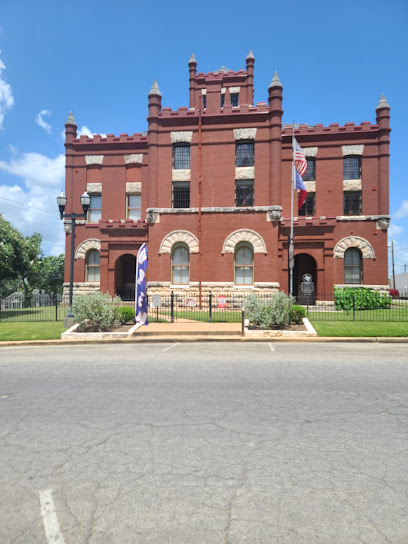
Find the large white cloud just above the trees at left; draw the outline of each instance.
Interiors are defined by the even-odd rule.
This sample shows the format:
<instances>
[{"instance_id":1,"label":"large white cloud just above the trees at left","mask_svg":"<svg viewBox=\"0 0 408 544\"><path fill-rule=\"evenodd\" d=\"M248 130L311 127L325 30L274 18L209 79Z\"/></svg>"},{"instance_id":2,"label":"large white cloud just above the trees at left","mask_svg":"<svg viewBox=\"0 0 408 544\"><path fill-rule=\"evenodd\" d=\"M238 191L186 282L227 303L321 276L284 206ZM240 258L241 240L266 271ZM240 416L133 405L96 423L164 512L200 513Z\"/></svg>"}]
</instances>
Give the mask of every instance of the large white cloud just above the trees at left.
<instances>
[{"instance_id":1,"label":"large white cloud just above the trees at left","mask_svg":"<svg viewBox=\"0 0 408 544\"><path fill-rule=\"evenodd\" d=\"M65 157L24 153L0 161L0 170L24 180L0 185L0 212L25 236L39 232L46 255L64 253L65 235L56 198L64 187Z\"/></svg>"}]
</instances>

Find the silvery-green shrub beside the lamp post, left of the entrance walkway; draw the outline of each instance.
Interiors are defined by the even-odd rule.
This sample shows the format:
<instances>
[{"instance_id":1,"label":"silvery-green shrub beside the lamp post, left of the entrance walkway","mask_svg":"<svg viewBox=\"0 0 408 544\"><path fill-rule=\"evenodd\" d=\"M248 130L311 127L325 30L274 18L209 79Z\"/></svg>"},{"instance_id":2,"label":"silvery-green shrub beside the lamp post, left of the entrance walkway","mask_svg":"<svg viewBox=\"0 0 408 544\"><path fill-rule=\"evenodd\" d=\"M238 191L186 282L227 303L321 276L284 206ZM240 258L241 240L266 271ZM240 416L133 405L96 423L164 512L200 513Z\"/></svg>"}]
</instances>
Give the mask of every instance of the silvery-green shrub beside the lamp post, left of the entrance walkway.
<instances>
[{"instance_id":1,"label":"silvery-green shrub beside the lamp post, left of the entrance walkway","mask_svg":"<svg viewBox=\"0 0 408 544\"><path fill-rule=\"evenodd\" d=\"M119 325L117 304L119 297L102 293L77 296L72 304L78 331L111 331Z\"/></svg>"}]
</instances>

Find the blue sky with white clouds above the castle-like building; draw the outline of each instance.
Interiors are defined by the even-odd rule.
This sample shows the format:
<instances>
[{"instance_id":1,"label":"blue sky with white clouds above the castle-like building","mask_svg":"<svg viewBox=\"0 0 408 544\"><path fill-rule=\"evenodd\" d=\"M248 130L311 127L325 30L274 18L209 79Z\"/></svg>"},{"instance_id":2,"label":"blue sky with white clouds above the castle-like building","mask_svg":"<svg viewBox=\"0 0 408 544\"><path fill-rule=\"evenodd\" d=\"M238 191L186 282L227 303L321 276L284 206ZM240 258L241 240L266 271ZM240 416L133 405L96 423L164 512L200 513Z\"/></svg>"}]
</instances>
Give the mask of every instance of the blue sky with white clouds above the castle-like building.
<instances>
[{"instance_id":1,"label":"blue sky with white clouds above the castle-like building","mask_svg":"<svg viewBox=\"0 0 408 544\"><path fill-rule=\"evenodd\" d=\"M80 133L147 128L157 79L163 106L188 105L198 71L245 68L255 55L255 102L275 70L283 121L375 123L391 106L390 192L396 272L408 265L406 129L408 2L282 0L154 3L3 0L0 7L0 213L46 254L64 249L55 198L64 185L64 123Z\"/></svg>"}]
</instances>

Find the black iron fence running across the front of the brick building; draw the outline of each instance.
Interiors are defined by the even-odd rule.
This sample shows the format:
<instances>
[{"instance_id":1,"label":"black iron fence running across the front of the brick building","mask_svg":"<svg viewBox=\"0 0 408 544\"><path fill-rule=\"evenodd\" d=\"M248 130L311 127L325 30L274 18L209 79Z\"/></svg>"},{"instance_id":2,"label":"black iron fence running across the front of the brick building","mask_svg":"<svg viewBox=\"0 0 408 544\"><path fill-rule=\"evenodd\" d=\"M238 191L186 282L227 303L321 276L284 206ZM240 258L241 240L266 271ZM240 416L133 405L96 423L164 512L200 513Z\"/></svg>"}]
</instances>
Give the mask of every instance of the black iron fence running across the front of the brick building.
<instances>
[{"instance_id":1,"label":"black iron fence running across the front of the brick building","mask_svg":"<svg viewBox=\"0 0 408 544\"><path fill-rule=\"evenodd\" d=\"M357 294L340 297L333 293L297 296L296 304L303 306L311 321L402 321L408 324L408 293L399 298L381 295L376 304L362 302ZM239 323L242 309L248 297L238 293L215 294L189 292L149 295L149 322L202 321L207 323ZM264 302L271 302L272 293L257 294ZM134 300L118 301L118 306L134 308ZM46 305L36 304L21 307L0 305L0 323L28 321L62 321L68 310L67 299L50 300ZM246 316L248 317L248 316Z\"/></svg>"}]
</instances>

